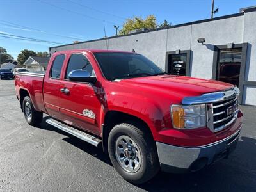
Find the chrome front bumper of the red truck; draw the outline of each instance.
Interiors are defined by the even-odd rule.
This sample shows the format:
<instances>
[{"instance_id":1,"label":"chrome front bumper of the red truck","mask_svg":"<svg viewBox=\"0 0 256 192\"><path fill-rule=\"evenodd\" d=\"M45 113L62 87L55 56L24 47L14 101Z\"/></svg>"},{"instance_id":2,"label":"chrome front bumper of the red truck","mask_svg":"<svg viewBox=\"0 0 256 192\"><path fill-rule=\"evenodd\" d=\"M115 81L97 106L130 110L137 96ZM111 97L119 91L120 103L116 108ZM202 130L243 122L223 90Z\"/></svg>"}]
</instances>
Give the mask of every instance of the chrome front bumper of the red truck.
<instances>
[{"instance_id":1,"label":"chrome front bumper of the red truck","mask_svg":"<svg viewBox=\"0 0 256 192\"><path fill-rule=\"evenodd\" d=\"M200 147L177 147L157 142L157 153L164 172L184 173L200 170L207 164L227 158L236 148L241 127L231 136Z\"/></svg>"}]
</instances>

